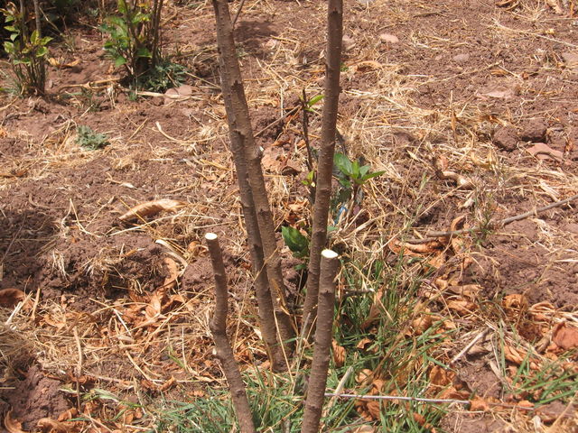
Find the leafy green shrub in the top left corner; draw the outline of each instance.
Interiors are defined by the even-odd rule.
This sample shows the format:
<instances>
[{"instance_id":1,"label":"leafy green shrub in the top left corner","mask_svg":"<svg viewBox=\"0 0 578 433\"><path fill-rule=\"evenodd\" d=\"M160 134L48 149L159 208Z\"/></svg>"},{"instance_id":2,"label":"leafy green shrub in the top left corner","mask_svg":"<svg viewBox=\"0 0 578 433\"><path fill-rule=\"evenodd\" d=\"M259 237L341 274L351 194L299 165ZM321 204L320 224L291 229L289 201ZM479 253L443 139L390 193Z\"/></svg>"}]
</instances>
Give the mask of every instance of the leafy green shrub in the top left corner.
<instances>
[{"instance_id":1,"label":"leafy green shrub in the top left corner","mask_svg":"<svg viewBox=\"0 0 578 433\"><path fill-rule=\"evenodd\" d=\"M28 29L28 12L10 2L0 9L5 16L5 30L10 33L4 49L14 72L14 82L19 93L29 95L44 93L49 37L42 37L40 20L35 20L36 29Z\"/></svg>"}]
</instances>

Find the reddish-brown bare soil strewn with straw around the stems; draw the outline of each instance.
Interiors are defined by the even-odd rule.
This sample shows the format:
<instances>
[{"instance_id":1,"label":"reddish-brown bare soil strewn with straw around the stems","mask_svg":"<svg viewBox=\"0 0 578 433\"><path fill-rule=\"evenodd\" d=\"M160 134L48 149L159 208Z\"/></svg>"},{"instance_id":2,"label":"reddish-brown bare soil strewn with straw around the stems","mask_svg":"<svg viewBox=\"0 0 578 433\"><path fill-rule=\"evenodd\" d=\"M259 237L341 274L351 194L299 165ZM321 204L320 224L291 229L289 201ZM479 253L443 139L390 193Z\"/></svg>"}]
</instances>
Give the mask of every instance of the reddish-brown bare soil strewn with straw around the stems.
<instances>
[{"instance_id":1,"label":"reddish-brown bare soil strewn with straw around the stems","mask_svg":"<svg viewBox=\"0 0 578 433\"><path fill-rule=\"evenodd\" d=\"M5 365L0 418L11 410L9 417L25 431L67 410L97 413L94 403L77 400L79 391L138 395L148 404L160 395L190 399L221 380L207 327L212 277L201 245L207 231L221 235L227 250L231 291L241 306L233 314L243 318L236 331L239 357L265 359L255 349L212 11L208 3L196 9L183 3L167 5L165 45L190 68L190 97L133 100L118 84L120 71L105 56L98 32L81 26L70 29L72 42L51 47L62 65L78 64L50 68L46 97L2 96L0 289L26 295L14 326L34 345L24 360ZM409 237L424 236L450 229L456 217L480 226L578 192L578 69L564 60L578 51L578 17L567 5L556 13L537 0L510 2L511 8L495 3L346 1L351 42L339 127L351 155L386 170L368 187L366 219L381 218L364 228L368 239L387 244L408 217ZM275 155L265 170L278 225L306 217L306 210L289 205L306 199L301 180L307 169L300 115L273 123L297 105L302 88L310 96L321 92L324 19L318 2L247 1L237 24L254 127L265 129L258 143ZM384 33L397 41L382 41ZM311 122L315 141L318 116ZM110 144L83 150L76 143L80 124L107 134ZM533 150L536 143L543 147ZM437 176L440 158L473 187L460 189ZM119 219L156 199L184 206ZM576 205L472 235L471 263L454 285L477 285L480 305L519 294L528 306L542 302L575 312ZM294 261L286 249L283 254L295 291ZM396 252L386 255L396 261ZM543 332L531 322L519 331L536 344ZM456 380L500 399L503 379L491 359L461 357ZM113 419L113 406L99 407L98 419ZM132 418L125 426L145 419L142 410L126 413ZM104 429L98 422L93 428L105 431L124 421L107 421ZM464 412L445 419L443 428L502 431L513 422Z\"/></svg>"}]
</instances>

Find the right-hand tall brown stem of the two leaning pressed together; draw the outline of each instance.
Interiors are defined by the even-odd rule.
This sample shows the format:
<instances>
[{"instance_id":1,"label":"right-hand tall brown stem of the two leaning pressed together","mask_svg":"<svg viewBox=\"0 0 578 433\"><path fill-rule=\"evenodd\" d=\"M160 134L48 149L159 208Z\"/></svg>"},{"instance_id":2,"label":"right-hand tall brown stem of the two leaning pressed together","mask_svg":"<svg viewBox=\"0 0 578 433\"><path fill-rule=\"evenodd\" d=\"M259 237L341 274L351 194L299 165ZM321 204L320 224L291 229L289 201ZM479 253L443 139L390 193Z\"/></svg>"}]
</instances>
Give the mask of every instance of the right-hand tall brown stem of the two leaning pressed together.
<instances>
[{"instance_id":1,"label":"right-hand tall brown stem of the two leaning pressed together","mask_svg":"<svg viewBox=\"0 0 578 433\"><path fill-rule=\"evenodd\" d=\"M217 23L219 69L221 88L227 111L231 151L236 163L241 157L247 163L247 179L250 185L253 211L263 246L265 269L269 281L279 338L287 349L287 340L294 337L294 324L286 308L285 287L281 272L281 258L277 251L273 214L269 207L261 161L257 152L251 126L243 78L238 64L233 26L228 12L227 0L212 0ZM288 355L288 354L287 354Z\"/></svg>"}]
</instances>

